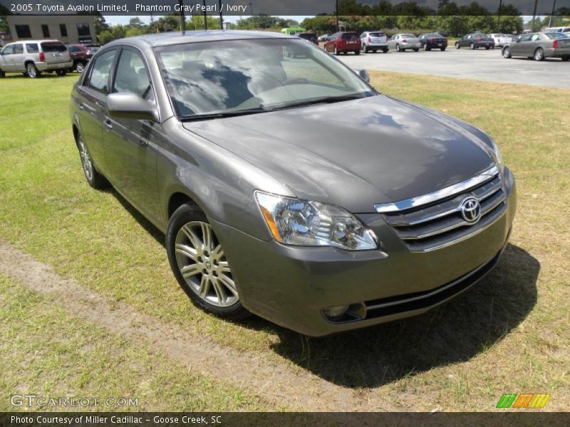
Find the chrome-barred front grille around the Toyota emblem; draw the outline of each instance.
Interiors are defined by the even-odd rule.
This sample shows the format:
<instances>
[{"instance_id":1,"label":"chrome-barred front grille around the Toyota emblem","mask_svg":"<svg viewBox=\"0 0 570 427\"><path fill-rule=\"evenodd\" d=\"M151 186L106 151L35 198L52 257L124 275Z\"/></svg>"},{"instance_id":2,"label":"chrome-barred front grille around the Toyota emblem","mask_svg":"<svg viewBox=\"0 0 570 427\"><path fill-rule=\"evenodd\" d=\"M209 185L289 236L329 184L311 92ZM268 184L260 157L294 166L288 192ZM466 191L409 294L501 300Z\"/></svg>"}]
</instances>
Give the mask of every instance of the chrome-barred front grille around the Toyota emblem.
<instances>
[{"instance_id":1,"label":"chrome-barred front grille around the Toyota emblem","mask_svg":"<svg viewBox=\"0 0 570 427\"><path fill-rule=\"evenodd\" d=\"M462 214L462 202L470 197L480 204L480 216L473 222ZM497 221L507 209L507 195L501 174L493 167L446 189L375 209L411 252L428 252L462 241Z\"/></svg>"}]
</instances>

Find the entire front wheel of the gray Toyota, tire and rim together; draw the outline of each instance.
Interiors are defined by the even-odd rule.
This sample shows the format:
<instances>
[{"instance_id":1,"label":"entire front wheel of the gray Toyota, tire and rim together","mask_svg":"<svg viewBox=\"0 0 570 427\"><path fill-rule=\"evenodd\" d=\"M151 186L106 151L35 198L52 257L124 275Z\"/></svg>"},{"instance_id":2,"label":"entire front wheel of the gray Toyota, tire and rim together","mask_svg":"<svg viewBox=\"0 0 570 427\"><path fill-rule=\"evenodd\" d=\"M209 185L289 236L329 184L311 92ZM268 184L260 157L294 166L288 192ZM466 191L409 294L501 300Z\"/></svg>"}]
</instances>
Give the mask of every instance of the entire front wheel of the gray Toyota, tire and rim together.
<instances>
[{"instance_id":1,"label":"entire front wheel of the gray Toyota, tire and rim together","mask_svg":"<svg viewBox=\"0 0 570 427\"><path fill-rule=\"evenodd\" d=\"M244 319L249 312L212 226L204 212L183 204L168 223L166 251L170 268L190 300L225 319Z\"/></svg>"}]
</instances>

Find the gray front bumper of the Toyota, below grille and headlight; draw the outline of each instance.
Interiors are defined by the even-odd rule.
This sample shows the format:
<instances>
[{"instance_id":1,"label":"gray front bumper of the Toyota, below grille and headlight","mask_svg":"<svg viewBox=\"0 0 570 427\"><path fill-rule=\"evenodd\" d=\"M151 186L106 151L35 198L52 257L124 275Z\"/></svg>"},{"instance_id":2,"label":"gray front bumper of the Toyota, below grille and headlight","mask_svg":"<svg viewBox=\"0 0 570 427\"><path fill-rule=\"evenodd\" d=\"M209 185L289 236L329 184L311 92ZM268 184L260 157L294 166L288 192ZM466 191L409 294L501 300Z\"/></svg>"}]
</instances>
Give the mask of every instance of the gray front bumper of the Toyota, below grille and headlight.
<instances>
[{"instance_id":1,"label":"gray front bumper of the Toyota, below grille and headlight","mask_svg":"<svg viewBox=\"0 0 570 427\"><path fill-rule=\"evenodd\" d=\"M244 307L311 336L419 315L458 295L497 264L516 211L514 177L505 169L507 209L479 233L451 246L413 253L379 214L360 214L381 242L375 251L285 246L212 221ZM324 307L350 305L358 315L335 322Z\"/></svg>"}]
</instances>

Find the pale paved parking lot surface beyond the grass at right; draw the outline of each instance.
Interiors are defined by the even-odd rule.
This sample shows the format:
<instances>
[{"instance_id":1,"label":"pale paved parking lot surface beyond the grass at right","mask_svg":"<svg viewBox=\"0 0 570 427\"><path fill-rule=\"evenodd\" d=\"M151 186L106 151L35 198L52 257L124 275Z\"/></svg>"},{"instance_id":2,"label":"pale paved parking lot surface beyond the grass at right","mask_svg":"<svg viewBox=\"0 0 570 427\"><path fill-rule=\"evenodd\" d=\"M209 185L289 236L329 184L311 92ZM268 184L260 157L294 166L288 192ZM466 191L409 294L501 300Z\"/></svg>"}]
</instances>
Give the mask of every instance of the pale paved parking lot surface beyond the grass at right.
<instances>
[{"instance_id":1,"label":"pale paved parking lot surface beyond the grass at right","mask_svg":"<svg viewBox=\"0 0 570 427\"><path fill-rule=\"evenodd\" d=\"M470 51L451 47L447 51L405 51L389 53L353 53L338 56L353 68L443 75L447 77L522 83L570 89L570 62L527 58L504 59L499 48Z\"/></svg>"}]
</instances>

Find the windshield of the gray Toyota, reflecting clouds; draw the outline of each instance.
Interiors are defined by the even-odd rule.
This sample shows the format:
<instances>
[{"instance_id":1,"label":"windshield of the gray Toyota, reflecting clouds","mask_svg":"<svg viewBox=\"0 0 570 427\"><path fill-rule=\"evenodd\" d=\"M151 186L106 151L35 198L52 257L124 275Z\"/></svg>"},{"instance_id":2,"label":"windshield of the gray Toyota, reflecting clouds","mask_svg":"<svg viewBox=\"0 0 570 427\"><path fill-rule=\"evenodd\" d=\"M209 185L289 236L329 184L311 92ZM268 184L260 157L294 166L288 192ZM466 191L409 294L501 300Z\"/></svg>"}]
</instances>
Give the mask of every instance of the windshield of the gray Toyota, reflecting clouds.
<instances>
[{"instance_id":1,"label":"windshield of the gray Toyota, reflecting clouds","mask_svg":"<svg viewBox=\"0 0 570 427\"><path fill-rule=\"evenodd\" d=\"M312 43L256 39L155 49L178 117L251 114L375 95Z\"/></svg>"}]
</instances>

